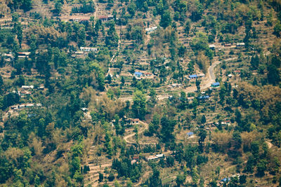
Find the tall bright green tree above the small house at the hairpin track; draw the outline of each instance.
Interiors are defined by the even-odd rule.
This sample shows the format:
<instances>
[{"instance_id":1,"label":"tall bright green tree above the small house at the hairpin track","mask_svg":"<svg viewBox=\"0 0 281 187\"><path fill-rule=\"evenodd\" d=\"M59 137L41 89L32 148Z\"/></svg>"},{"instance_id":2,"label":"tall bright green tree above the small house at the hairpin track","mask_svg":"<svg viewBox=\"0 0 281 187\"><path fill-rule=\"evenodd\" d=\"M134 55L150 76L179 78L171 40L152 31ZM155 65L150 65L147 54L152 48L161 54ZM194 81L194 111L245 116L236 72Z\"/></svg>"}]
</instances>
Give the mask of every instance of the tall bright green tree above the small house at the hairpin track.
<instances>
[{"instance_id":1,"label":"tall bright green tree above the small house at the hairpin track","mask_svg":"<svg viewBox=\"0 0 281 187\"><path fill-rule=\"evenodd\" d=\"M146 114L146 96L140 90L133 93L132 111L136 118L144 119Z\"/></svg>"}]
</instances>

